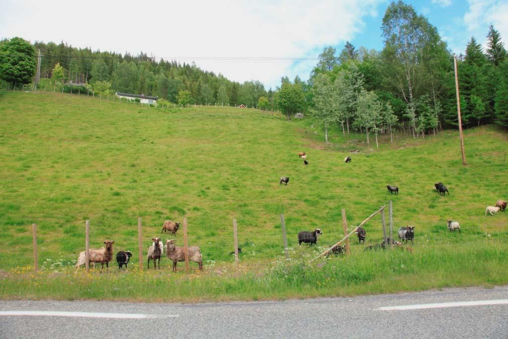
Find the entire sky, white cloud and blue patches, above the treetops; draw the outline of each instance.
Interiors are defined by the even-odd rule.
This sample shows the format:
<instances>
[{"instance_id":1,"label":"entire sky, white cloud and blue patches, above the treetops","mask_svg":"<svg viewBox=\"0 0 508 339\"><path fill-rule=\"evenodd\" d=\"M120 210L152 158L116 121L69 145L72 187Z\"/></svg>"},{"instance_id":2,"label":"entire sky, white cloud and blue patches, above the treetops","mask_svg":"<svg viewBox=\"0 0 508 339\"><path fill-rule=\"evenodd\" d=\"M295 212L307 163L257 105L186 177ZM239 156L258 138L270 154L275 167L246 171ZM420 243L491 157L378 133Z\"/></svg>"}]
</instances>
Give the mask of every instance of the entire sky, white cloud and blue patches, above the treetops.
<instances>
[{"instance_id":1,"label":"entire sky, white cloud and blue patches, above the treetops","mask_svg":"<svg viewBox=\"0 0 508 339\"><path fill-rule=\"evenodd\" d=\"M67 42L180 63L195 61L230 80L306 80L327 46L346 41L382 49L380 26L390 2L382 0L69 2L0 0L0 38ZM489 24L508 39L508 1L408 0L437 27L452 52L474 36L485 45ZM295 58L307 58L295 60ZM310 58L310 59L309 59Z\"/></svg>"}]
</instances>

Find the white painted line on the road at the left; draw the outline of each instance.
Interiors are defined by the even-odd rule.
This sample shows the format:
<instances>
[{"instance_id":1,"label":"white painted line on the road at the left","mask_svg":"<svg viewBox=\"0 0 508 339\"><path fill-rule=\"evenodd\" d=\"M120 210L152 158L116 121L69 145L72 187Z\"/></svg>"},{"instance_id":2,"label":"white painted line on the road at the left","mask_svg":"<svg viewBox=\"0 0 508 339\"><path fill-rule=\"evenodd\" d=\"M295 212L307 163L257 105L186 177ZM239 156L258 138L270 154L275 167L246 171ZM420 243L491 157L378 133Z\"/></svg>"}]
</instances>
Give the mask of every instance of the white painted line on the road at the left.
<instances>
[{"instance_id":1,"label":"white painted line on the road at the left","mask_svg":"<svg viewBox=\"0 0 508 339\"><path fill-rule=\"evenodd\" d=\"M84 317L84 318L121 318L121 319L153 319L176 318L179 315L154 315L139 313L101 313L101 312L59 312L59 311L0 311L0 316L45 316L45 317Z\"/></svg>"}]
</instances>

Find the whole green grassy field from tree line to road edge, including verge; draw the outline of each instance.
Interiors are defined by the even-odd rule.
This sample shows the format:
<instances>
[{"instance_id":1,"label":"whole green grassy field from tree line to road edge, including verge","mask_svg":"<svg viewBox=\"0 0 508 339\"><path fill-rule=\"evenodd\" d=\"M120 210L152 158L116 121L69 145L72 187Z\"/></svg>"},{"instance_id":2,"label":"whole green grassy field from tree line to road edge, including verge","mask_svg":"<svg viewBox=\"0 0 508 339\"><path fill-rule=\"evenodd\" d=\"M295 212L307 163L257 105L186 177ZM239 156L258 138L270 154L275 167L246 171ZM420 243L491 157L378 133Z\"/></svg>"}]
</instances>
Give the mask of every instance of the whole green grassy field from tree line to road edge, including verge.
<instances>
[{"instance_id":1,"label":"whole green grassy field from tree line to road edge, including verge","mask_svg":"<svg viewBox=\"0 0 508 339\"><path fill-rule=\"evenodd\" d=\"M334 131L333 145L325 145L310 120L250 109L0 93L0 121L2 298L265 299L508 283L508 213L484 215L508 198L508 137L493 127L465 131L463 167L455 131L423 140L398 135L379 149L363 135ZM361 152L345 164L350 149ZM308 167L298 151L308 152ZM291 178L287 187L280 176ZM433 190L438 181L450 196ZM342 235L341 208L352 229L390 199L395 228L416 226L414 253L364 253L355 242L351 257L306 264L317 250L298 248L299 231L320 227L320 245L333 244ZM294 248L290 265L282 263L280 213ZM205 271L174 274L167 260L161 272L74 271L85 220L92 248L112 239L115 252L129 249L137 258L138 218L145 249L165 220L187 218ZM239 268L229 254L233 218ZM447 231L448 219L460 222L461 234ZM31 223L46 268L37 274L29 271ZM380 240L379 217L365 228L368 243ZM176 239L181 245L180 233Z\"/></svg>"}]
</instances>

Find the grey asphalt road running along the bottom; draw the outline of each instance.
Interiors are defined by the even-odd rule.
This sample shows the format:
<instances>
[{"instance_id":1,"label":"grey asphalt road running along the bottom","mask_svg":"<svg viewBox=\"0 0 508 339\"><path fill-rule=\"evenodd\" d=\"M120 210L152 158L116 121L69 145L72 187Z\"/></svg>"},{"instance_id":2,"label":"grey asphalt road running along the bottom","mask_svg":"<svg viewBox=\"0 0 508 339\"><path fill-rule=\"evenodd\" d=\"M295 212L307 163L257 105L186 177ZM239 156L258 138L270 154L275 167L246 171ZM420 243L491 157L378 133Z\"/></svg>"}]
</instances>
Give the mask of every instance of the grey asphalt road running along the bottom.
<instances>
[{"instance_id":1,"label":"grey asphalt road running along the bottom","mask_svg":"<svg viewBox=\"0 0 508 339\"><path fill-rule=\"evenodd\" d=\"M494 304L447 304L479 300ZM428 305L432 303L440 304ZM415 304L435 308L382 309ZM8 311L60 313L6 315ZM354 298L199 304L0 301L0 337L506 339L508 286Z\"/></svg>"}]
</instances>

